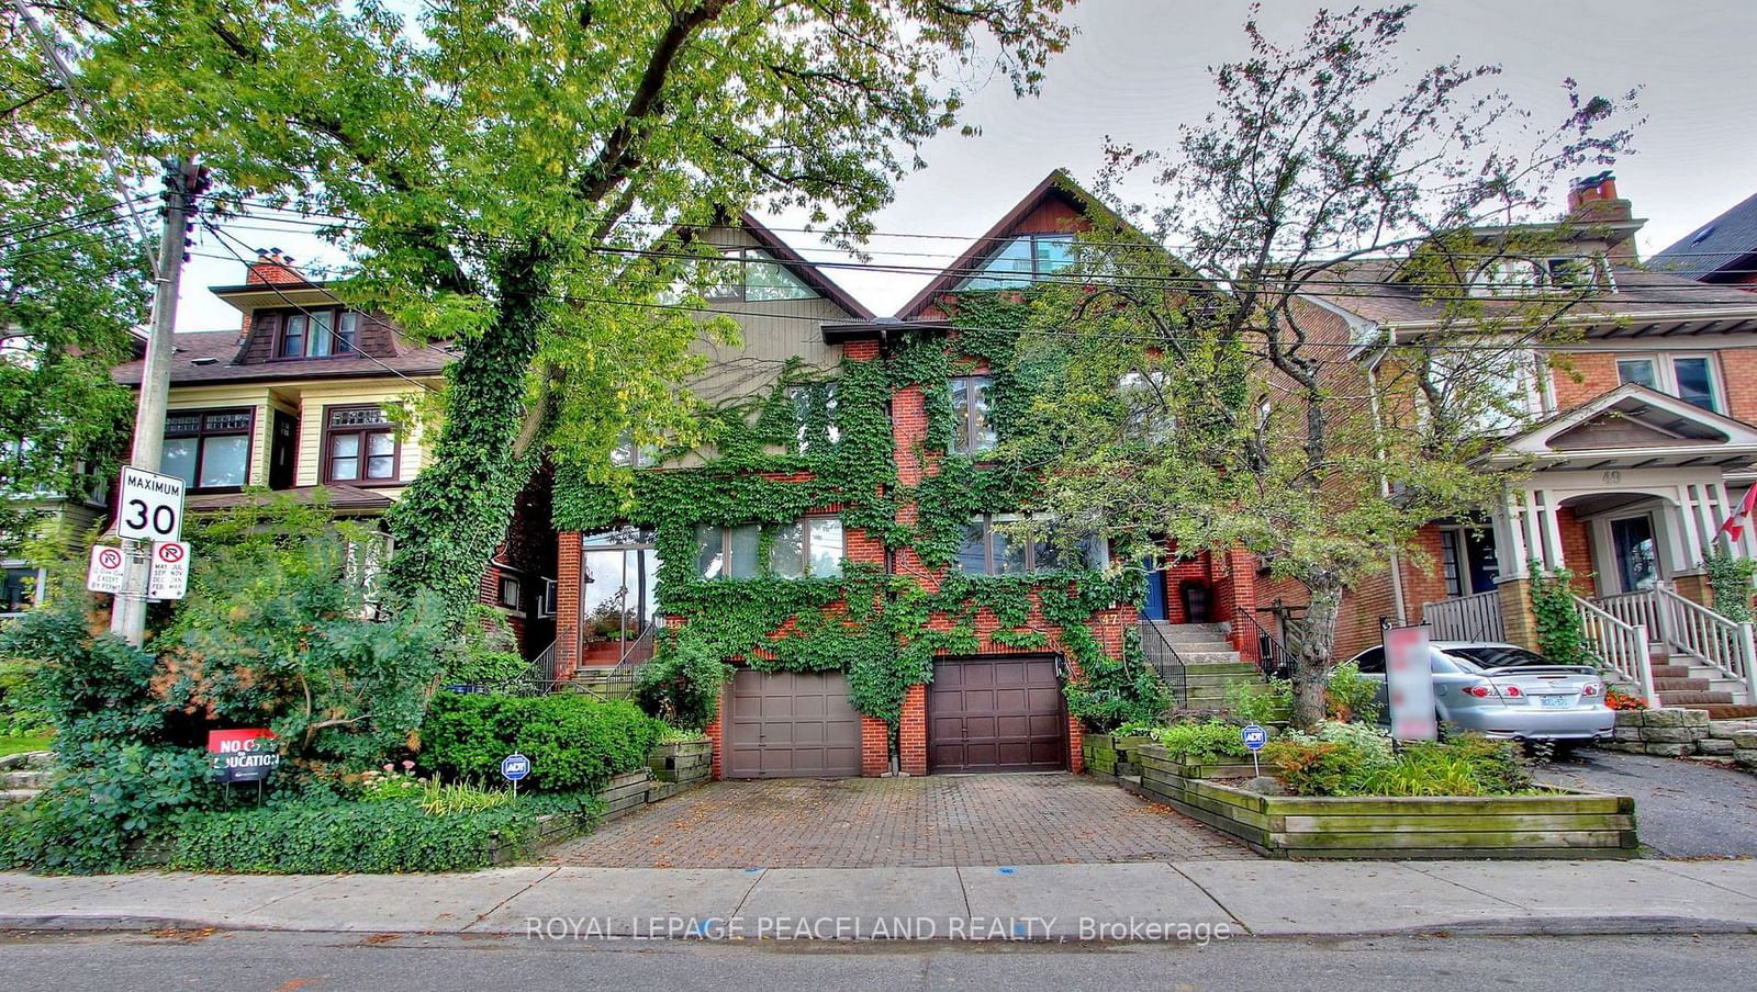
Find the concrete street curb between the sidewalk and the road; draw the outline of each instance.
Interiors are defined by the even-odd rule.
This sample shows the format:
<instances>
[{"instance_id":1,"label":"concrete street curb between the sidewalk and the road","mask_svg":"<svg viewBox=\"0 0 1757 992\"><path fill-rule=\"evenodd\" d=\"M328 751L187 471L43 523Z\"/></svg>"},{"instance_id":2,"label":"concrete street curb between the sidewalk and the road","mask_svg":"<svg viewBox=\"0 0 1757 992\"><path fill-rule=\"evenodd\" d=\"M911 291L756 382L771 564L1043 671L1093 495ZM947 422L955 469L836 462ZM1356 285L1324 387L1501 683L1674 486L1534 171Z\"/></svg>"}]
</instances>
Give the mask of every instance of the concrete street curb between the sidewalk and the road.
<instances>
[{"instance_id":1,"label":"concrete street curb between the sidewalk and the road","mask_svg":"<svg viewBox=\"0 0 1757 992\"><path fill-rule=\"evenodd\" d=\"M1414 927L1367 929L1367 931L1276 931L1267 934L1253 932L1239 925L1237 936L1254 939L1369 939L1369 938L1409 938L1409 936L1629 936L1629 934L1757 934L1757 920L1727 920L1676 915L1634 915L1634 917L1497 917L1457 922L1430 922ZM239 932L286 932L286 934L423 934L423 936L469 936L469 938L524 938L517 931L471 931L471 929L434 929L434 927L297 927L279 924L255 924L248 920L202 920L190 917L156 917L132 913L0 913L0 932L47 931L47 932L141 932L141 931L239 931ZM636 938L594 938L582 943L634 943ZM770 945L770 943L875 943L875 945L949 945L963 943L947 938L929 939L824 939L824 941L785 941L775 938L740 938L733 941L703 938L640 938L640 943L717 943L717 945ZM1161 941L1079 941L1070 938L1040 936L1009 941L977 943L1093 943L1093 945L1175 945L1189 943L1167 938Z\"/></svg>"}]
</instances>

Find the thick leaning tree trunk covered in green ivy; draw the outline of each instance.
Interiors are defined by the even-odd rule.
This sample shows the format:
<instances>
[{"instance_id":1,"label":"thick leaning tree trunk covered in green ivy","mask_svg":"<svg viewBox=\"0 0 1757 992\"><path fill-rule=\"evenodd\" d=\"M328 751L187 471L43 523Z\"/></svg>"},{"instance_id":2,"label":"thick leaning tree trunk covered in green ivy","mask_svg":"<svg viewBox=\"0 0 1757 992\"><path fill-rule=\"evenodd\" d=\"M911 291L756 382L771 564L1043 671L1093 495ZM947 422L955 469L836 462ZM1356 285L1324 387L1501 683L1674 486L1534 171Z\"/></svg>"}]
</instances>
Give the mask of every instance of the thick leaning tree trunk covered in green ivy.
<instances>
[{"instance_id":1,"label":"thick leaning tree trunk covered in green ivy","mask_svg":"<svg viewBox=\"0 0 1757 992\"><path fill-rule=\"evenodd\" d=\"M539 297L522 283L503 283L499 320L452 369L432 460L387 514L397 546L385 592L395 602L430 590L453 623L476 600L481 572L506 539L518 490L538 464L538 446L520 451L515 444L543 320Z\"/></svg>"}]
</instances>

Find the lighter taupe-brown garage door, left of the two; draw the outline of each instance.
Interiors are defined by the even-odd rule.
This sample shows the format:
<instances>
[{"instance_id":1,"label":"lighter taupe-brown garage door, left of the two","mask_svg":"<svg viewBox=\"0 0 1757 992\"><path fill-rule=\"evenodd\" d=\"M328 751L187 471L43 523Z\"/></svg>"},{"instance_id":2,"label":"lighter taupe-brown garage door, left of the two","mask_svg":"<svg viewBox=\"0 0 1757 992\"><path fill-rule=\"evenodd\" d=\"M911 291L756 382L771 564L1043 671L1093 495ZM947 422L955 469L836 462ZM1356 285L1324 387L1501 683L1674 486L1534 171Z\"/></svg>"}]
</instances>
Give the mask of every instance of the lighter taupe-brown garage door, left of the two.
<instances>
[{"instance_id":1,"label":"lighter taupe-brown garage door, left of the two","mask_svg":"<svg viewBox=\"0 0 1757 992\"><path fill-rule=\"evenodd\" d=\"M726 778L861 774L861 718L840 672L740 671L726 718Z\"/></svg>"}]
</instances>

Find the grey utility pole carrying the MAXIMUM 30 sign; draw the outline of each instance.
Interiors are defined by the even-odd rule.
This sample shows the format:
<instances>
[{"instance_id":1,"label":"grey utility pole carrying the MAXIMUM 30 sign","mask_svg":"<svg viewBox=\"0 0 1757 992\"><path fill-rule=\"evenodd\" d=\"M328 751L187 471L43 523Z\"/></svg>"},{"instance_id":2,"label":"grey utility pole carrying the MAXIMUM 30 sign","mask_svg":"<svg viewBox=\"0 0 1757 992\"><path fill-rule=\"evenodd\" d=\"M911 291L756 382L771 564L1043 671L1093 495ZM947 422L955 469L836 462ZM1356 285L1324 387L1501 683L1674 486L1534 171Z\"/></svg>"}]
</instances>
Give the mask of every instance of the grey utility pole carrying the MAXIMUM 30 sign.
<instances>
[{"instance_id":1,"label":"grey utility pole carrying the MAXIMUM 30 sign","mask_svg":"<svg viewBox=\"0 0 1757 992\"><path fill-rule=\"evenodd\" d=\"M193 160L165 160L165 226L158 242L158 276L153 284L153 327L146 339L146 367L141 370L141 400L134 413L134 448L128 464L148 472L158 471L165 449L165 400L170 393L170 335L177 328L177 291L183 283L190 214L206 177ZM149 541L123 539L128 578L111 606L111 632L130 644L146 639L146 578L151 565Z\"/></svg>"}]
</instances>

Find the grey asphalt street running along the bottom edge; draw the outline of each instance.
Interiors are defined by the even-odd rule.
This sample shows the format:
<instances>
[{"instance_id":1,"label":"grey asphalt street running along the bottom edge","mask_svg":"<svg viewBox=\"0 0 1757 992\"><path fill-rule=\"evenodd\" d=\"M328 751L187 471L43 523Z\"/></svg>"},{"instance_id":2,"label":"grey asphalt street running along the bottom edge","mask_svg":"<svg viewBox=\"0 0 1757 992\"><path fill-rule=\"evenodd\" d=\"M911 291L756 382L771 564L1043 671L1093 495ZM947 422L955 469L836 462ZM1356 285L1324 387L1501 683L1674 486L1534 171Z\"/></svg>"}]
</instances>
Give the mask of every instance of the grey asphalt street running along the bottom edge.
<instances>
[{"instance_id":1,"label":"grey asphalt street running along the bottom edge","mask_svg":"<svg viewBox=\"0 0 1757 992\"><path fill-rule=\"evenodd\" d=\"M462 988L1752 988L1757 936L1240 938L1197 946L578 945L518 938L330 934L0 936L9 992L181 988L372 992Z\"/></svg>"}]
</instances>

